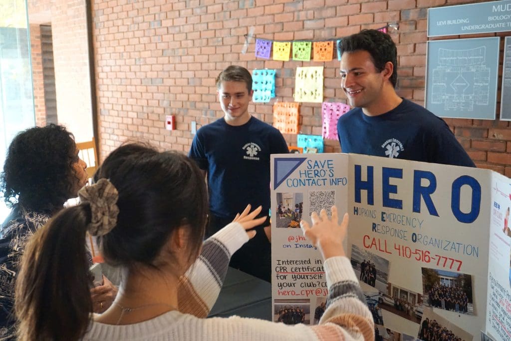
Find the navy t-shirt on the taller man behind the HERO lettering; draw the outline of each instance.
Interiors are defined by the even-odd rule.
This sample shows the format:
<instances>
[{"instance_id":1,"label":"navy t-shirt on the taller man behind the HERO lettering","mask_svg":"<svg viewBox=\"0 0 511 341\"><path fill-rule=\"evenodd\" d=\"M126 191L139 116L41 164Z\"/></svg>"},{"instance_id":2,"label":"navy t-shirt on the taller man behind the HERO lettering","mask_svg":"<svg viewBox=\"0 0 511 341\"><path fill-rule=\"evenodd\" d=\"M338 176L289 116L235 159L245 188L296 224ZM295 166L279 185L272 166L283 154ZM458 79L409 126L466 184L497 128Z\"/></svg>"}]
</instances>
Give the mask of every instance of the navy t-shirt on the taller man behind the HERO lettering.
<instances>
[{"instance_id":1,"label":"navy t-shirt on the taller man behind the HERO lettering","mask_svg":"<svg viewBox=\"0 0 511 341\"><path fill-rule=\"evenodd\" d=\"M475 167L444 120L406 99L379 116L354 108L340 117L337 132L343 153Z\"/></svg>"}]
</instances>

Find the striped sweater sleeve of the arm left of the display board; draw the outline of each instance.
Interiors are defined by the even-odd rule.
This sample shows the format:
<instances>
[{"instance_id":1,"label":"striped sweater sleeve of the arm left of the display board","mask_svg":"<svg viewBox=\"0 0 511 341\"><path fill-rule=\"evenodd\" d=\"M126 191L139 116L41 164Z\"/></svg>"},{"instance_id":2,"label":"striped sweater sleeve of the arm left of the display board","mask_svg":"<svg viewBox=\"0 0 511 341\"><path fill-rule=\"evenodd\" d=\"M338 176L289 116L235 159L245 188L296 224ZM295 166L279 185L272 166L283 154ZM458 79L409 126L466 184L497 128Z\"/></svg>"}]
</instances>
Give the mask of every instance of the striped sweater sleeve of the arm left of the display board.
<instances>
[{"instance_id":1,"label":"striped sweater sleeve of the arm left of the display board","mask_svg":"<svg viewBox=\"0 0 511 341\"><path fill-rule=\"evenodd\" d=\"M179 311L206 317L222 288L230 257L248 241L243 226L233 222L206 239L194 264L180 278Z\"/></svg>"}]
</instances>

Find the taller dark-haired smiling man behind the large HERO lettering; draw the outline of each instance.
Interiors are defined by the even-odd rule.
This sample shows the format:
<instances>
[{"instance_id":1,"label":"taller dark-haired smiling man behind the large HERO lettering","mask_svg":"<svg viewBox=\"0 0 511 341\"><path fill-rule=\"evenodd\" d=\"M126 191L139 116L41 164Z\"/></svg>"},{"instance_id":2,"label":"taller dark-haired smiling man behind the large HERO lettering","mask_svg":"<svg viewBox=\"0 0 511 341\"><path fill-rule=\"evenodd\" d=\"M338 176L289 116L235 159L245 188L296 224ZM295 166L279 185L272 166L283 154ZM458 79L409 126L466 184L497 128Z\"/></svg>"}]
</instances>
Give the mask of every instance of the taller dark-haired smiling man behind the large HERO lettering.
<instances>
[{"instance_id":1,"label":"taller dark-haired smiling man behind the large HERO lettering","mask_svg":"<svg viewBox=\"0 0 511 341\"><path fill-rule=\"evenodd\" d=\"M363 30L339 49L341 87L355 107L337 123L342 152L475 167L444 120L396 94L397 49L388 34Z\"/></svg>"}]
</instances>

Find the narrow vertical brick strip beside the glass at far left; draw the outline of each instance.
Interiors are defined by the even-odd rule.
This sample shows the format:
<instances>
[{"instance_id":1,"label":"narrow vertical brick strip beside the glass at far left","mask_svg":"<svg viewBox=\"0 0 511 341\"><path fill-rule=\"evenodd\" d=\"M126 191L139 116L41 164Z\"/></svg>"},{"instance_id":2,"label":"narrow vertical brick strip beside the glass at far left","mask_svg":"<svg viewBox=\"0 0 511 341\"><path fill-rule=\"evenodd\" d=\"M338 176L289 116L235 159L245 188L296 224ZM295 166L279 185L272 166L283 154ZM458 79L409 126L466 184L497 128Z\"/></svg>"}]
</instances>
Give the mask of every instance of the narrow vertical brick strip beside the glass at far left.
<instances>
[{"instance_id":1,"label":"narrow vertical brick strip beside the glass at far left","mask_svg":"<svg viewBox=\"0 0 511 341\"><path fill-rule=\"evenodd\" d=\"M35 124L42 127L46 125L46 106L44 103L41 29L39 25L30 25L30 49L32 54L32 83L34 86Z\"/></svg>"}]
</instances>

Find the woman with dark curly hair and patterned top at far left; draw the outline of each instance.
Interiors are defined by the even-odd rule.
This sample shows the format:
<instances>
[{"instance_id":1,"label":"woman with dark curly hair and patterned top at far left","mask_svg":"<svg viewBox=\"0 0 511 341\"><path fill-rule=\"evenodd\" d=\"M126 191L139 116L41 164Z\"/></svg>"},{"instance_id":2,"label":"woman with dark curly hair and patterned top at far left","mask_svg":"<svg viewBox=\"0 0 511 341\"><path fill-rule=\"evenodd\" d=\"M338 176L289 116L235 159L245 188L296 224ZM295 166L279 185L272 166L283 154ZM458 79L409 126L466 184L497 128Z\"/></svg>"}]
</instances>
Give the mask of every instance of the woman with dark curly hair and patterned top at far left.
<instances>
[{"instance_id":1,"label":"woman with dark curly hair and patterned top at far left","mask_svg":"<svg viewBox=\"0 0 511 341\"><path fill-rule=\"evenodd\" d=\"M12 209L0 224L0 339L14 337L14 281L25 246L67 199L77 196L87 183L86 167L73 134L62 126L30 128L12 140L0 174L0 192ZM103 289L113 287L108 284Z\"/></svg>"}]
</instances>

